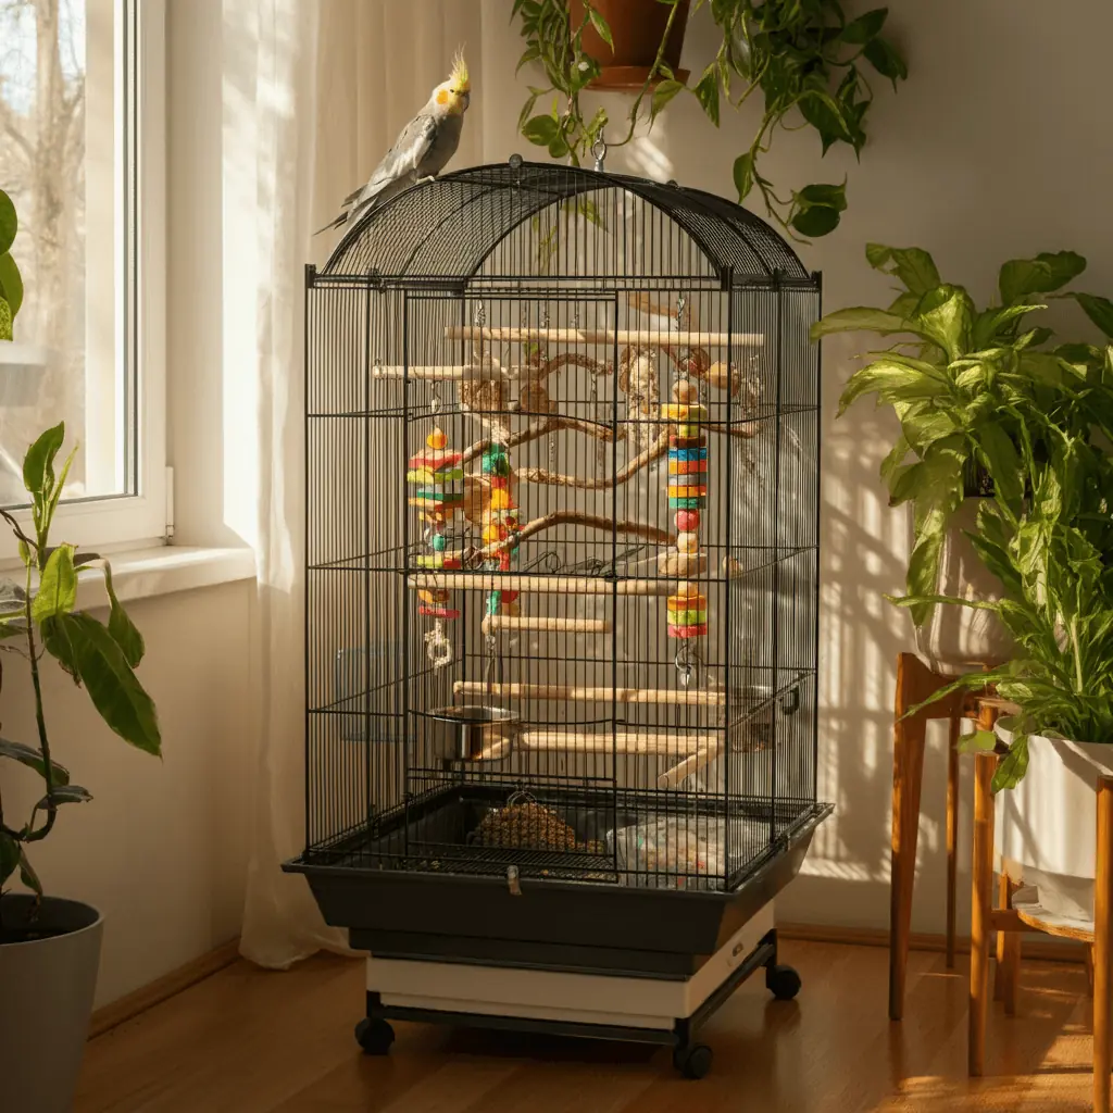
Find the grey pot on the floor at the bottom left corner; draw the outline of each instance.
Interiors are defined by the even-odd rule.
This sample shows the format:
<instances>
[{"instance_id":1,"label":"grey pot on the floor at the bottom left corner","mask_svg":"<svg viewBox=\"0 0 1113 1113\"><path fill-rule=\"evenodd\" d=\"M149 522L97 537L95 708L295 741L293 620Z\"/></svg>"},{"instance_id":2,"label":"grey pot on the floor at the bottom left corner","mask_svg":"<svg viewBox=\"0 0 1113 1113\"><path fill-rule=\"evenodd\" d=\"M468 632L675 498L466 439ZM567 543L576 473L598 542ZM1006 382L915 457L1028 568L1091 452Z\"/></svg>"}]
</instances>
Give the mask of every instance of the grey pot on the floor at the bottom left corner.
<instances>
[{"instance_id":1,"label":"grey pot on the floor at the bottom left corner","mask_svg":"<svg viewBox=\"0 0 1113 1113\"><path fill-rule=\"evenodd\" d=\"M32 898L0 897L3 923L27 923ZM76 900L47 897L37 922L60 934L0 943L0 1107L69 1113L97 987L104 922Z\"/></svg>"}]
</instances>

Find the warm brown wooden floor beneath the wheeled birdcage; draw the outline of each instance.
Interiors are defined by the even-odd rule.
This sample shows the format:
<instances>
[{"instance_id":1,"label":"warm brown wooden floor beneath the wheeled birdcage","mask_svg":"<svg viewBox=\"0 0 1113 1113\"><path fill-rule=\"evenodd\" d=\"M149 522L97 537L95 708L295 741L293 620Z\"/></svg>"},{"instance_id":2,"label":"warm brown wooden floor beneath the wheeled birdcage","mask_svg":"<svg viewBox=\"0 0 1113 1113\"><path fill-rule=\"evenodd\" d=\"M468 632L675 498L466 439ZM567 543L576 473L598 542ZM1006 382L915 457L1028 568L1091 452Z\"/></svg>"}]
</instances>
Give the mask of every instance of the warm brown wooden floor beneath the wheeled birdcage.
<instances>
[{"instance_id":1,"label":"warm brown wooden floor beneath the wheeled birdcage","mask_svg":"<svg viewBox=\"0 0 1113 1113\"><path fill-rule=\"evenodd\" d=\"M995 1005L986 1077L966 1077L966 961L914 953L905 1021L886 1018L887 953L788 942L797 1001L760 977L705 1030L702 1082L633 1045L395 1025L388 1058L352 1036L363 966L285 974L237 963L89 1045L78 1113L824 1113L1090 1109L1085 972L1027 963L1017 1015Z\"/></svg>"}]
</instances>

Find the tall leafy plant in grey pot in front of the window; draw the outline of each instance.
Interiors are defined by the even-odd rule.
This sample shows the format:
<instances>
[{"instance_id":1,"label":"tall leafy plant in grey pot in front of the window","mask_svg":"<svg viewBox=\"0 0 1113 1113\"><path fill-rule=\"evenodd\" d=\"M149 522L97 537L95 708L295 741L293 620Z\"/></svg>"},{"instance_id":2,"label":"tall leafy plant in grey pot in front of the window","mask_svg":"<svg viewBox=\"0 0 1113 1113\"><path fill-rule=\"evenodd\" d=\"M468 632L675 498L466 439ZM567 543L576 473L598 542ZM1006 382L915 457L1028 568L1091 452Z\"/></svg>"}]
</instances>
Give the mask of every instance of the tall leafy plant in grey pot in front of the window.
<instances>
[{"instance_id":1,"label":"tall leafy plant in grey pot in front of the window","mask_svg":"<svg viewBox=\"0 0 1113 1113\"><path fill-rule=\"evenodd\" d=\"M10 292L10 279L3 288ZM6 339L11 317L0 295ZM47 658L85 687L101 719L125 741L155 755L161 747L155 705L134 671L142 660L142 637L116 598L108 563L50 540L77 451L56 471L65 439L63 424L47 430L23 460L30 525L24 529L0 510L23 562L22 583L0 583L0 651L22 660L20 679L29 684L36 723L31 745L0 738L0 1109L12 1113L62 1113L72 1106L102 927L96 908L43 895L32 864L35 847L56 829L63 806L91 799L51 754L41 677ZM108 592L107 623L77 610L78 579L95 570ZM33 801L26 814L16 814L17 797ZM23 892L12 888L17 883Z\"/></svg>"}]
</instances>

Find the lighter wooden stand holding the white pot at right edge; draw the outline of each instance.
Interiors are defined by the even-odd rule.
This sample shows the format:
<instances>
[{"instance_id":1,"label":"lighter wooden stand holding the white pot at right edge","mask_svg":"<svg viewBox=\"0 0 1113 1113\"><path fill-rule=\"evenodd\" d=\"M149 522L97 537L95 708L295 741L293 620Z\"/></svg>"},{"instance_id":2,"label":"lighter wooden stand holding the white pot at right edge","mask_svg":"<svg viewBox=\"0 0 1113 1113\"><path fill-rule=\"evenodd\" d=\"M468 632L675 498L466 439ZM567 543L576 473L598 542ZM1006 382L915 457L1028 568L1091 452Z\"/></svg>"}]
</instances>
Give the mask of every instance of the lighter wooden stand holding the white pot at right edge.
<instances>
[{"instance_id":1,"label":"lighter wooden stand holding the white pot at right edge","mask_svg":"<svg viewBox=\"0 0 1113 1113\"><path fill-rule=\"evenodd\" d=\"M974 903L971 914L969 1073L985 1068L985 1024L988 1011L989 933L997 933L999 996L1005 1012L1016 1007L1021 971L1021 933L1044 932L1091 946L1094 996L1094 1109L1110 1107L1111 1052L1110 948L1113 943L1113 778L1097 782L1097 877L1094 885L1094 923L1064 919L1045 912L1002 877L1001 905L993 907L994 799L991 784L999 756L978 754L974 768Z\"/></svg>"}]
</instances>

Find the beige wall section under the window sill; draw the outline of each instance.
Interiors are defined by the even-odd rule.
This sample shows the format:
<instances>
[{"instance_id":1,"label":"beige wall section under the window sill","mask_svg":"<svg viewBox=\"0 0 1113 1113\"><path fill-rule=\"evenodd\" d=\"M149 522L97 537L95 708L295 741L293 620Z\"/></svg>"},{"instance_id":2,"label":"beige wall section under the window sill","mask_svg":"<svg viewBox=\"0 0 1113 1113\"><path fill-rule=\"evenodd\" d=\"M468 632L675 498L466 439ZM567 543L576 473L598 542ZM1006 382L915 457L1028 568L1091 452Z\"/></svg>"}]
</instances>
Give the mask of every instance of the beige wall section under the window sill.
<instances>
[{"instance_id":1,"label":"beige wall section under the window sill","mask_svg":"<svg viewBox=\"0 0 1113 1113\"><path fill-rule=\"evenodd\" d=\"M114 736L49 659L47 721L55 752L92 792L59 814L33 848L48 893L105 915L98 1005L234 938L243 912L252 776L245 768L254 605L249 581L131 603L147 641L139 676L158 707L164 759ZM4 661L3 735L35 738L26 664ZM10 766L6 762L6 766ZM4 772L9 821L41 795Z\"/></svg>"}]
</instances>

